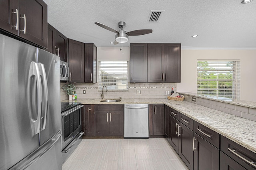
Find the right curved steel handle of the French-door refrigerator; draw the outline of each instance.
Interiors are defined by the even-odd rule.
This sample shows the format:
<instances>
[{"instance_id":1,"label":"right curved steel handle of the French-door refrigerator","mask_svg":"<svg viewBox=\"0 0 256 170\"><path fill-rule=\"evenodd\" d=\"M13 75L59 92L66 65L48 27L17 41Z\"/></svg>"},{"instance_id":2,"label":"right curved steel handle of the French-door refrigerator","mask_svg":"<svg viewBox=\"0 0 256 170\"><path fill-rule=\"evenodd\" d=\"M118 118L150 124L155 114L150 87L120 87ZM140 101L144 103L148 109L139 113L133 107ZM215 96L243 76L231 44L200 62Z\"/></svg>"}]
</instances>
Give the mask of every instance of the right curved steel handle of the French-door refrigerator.
<instances>
[{"instance_id":1,"label":"right curved steel handle of the French-door refrigerator","mask_svg":"<svg viewBox=\"0 0 256 170\"><path fill-rule=\"evenodd\" d=\"M47 77L44 69L44 64L38 63L38 66L39 66L40 76L42 77L42 85L44 90L44 95L42 97L42 111L41 111L41 119L43 120L43 123L41 123L43 125L41 127L41 130L44 130L46 127L47 107L48 107L48 86L47 86L48 84L47 84Z\"/></svg>"}]
</instances>

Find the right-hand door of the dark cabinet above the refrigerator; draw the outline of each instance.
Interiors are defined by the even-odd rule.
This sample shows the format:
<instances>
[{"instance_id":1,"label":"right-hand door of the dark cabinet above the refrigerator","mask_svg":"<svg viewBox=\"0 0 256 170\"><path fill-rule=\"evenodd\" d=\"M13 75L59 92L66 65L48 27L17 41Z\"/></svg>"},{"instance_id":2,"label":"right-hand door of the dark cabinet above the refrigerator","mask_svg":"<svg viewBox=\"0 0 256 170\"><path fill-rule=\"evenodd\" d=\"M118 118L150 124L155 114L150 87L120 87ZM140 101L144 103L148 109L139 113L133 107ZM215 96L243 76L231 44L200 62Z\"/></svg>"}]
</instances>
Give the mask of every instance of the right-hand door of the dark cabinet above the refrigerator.
<instances>
[{"instance_id":1,"label":"right-hand door of the dark cabinet above the refrigerator","mask_svg":"<svg viewBox=\"0 0 256 170\"><path fill-rule=\"evenodd\" d=\"M19 36L47 48L47 5L42 0L19 0L18 2Z\"/></svg>"}]
</instances>

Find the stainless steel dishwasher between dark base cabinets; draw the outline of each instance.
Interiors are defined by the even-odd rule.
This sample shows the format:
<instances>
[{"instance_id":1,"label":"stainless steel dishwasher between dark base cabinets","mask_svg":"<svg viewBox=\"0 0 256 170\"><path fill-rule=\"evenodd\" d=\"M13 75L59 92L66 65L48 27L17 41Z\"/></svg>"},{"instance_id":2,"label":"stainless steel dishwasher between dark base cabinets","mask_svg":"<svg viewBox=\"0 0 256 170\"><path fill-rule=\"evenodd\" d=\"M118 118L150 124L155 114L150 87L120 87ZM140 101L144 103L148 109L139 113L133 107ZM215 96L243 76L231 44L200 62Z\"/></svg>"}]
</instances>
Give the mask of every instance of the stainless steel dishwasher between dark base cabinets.
<instances>
[{"instance_id":1,"label":"stainless steel dishwasher between dark base cabinets","mask_svg":"<svg viewBox=\"0 0 256 170\"><path fill-rule=\"evenodd\" d=\"M148 139L148 104L124 105L124 138Z\"/></svg>"}]
</instances>

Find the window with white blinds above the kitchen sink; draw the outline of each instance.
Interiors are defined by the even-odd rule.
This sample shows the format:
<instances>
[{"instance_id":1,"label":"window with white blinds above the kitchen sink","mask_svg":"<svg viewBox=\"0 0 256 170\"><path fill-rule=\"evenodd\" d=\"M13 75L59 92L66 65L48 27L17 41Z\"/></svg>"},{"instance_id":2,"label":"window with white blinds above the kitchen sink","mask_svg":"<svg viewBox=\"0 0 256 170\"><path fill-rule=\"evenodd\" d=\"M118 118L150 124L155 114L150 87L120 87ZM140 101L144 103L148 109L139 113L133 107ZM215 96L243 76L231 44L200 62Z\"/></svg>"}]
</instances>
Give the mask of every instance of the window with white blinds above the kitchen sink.
<instances>
[{"instance_id":1,"label":"window with white blinds above the kitchen sink","mask_svg":"<svg viewBox=\"0 0 256 170\"><path fill-rule=\"evenodd\" d=\"M99 89L128 90L128 61L98 61Z\"/></svg>"}]
</instances>

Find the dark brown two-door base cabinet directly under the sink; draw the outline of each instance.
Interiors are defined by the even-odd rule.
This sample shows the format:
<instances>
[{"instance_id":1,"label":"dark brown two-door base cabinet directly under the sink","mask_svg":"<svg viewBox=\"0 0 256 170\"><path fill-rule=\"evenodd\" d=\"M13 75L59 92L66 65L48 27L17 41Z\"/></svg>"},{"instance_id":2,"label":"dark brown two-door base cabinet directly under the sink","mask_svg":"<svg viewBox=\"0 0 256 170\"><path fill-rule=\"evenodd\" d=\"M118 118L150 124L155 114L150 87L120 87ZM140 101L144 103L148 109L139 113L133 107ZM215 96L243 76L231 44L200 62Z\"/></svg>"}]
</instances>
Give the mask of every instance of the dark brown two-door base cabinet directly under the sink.
<instances>
[{"instance_id":1,"label":"dark brown two-door base cabinet directly under the sink","mask_svg":"<svg viewBox=\"0 0 256 170\"><path fill-rule=\"evenodd\" d=\"M95 105L95 136L124 136L123 105Z\"/></svg>"}]
</instances>

